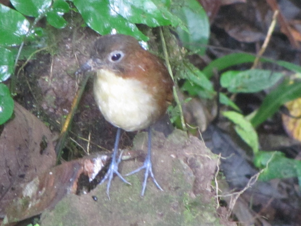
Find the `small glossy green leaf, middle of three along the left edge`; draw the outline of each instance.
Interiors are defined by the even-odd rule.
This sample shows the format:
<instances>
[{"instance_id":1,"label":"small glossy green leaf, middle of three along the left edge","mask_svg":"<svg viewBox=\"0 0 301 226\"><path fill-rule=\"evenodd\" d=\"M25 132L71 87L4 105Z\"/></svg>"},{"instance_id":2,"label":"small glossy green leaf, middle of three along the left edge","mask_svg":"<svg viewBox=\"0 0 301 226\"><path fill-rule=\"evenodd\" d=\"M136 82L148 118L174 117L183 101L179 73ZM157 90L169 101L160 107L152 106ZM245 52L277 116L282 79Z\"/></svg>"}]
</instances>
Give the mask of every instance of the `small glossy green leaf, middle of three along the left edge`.
<instances>
[{"instance_id":1,"label":"small glossy green leaf, middle of three along the left edge","mask_svg":"<svg viewBox=\"0 0 301 226\"><path fill-rule=\"evenodd\" d=\"M0 46L0 82L7 80L14 71L14 55Z\"/></svg>"}]
</instances>

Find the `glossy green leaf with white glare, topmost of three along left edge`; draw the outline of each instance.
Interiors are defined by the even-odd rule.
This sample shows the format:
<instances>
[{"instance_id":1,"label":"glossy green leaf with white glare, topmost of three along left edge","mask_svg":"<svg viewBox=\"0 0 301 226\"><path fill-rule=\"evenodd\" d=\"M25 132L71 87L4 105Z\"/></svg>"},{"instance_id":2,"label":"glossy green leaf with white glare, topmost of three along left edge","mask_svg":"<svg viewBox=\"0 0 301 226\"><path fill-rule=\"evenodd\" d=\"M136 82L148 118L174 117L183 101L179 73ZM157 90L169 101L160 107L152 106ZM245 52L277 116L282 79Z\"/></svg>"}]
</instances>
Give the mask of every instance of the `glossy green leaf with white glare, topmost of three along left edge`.
<instances>
[{"instance_id":1,"label":"glossy green leaf with white glare, topmost of three along left edge","mask_svg":"<svg viewBox=\"0 0 301 226\"><path fill-rule=\"evenodd\" d=\"M20 45L29 30L29 22L18 11L0 4L0 45Z\"/></svg>"}]
</instances>

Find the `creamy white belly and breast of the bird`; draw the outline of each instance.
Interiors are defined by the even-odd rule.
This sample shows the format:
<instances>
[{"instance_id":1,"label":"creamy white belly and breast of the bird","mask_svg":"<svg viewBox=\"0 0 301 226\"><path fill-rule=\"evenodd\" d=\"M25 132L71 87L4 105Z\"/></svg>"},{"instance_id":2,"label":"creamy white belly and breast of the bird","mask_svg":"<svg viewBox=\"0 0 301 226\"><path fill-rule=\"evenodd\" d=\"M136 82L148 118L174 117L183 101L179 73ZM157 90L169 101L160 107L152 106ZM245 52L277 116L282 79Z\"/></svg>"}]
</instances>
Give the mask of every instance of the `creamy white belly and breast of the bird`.
<instances>
[{"instance_id":1,"label":"creamy white belly and breast of the bird","mask_svg":"<svg viewBox=\"0 0 301 226\"><path fill-rule=\"evenodd\" d=\"M141 82L103 69L96 76L94 95L107 121L126 131L141 130L151 124L156 102Z\"/></svg>"}]
</instances>

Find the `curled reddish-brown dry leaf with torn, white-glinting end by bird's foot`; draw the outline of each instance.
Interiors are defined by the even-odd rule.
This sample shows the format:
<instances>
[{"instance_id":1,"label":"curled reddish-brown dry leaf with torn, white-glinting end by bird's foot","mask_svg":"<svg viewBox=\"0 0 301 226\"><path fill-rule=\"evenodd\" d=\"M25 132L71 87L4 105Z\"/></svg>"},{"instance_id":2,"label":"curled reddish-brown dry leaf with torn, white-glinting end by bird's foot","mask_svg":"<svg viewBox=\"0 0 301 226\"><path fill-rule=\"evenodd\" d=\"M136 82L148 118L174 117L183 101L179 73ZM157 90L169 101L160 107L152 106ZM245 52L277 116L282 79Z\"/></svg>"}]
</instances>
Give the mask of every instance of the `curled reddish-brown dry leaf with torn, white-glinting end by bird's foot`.
<instances>
[{"instance_id":1,"label":"curled reddish-brown dry leaf with torn, white-glinting end by bird's foot","mask_svg":"<svg viewBox=\"0 0 301 226\"><path fill-rule=\"evenodd\" d=\"M20 184L23 190L7 206L4 225L13 225L51 209L69 193L90 191L98 184L95 177L108 159L107 155L98 155L65 162L39 174L29 183Z\"/></svg>"}]
</instances>

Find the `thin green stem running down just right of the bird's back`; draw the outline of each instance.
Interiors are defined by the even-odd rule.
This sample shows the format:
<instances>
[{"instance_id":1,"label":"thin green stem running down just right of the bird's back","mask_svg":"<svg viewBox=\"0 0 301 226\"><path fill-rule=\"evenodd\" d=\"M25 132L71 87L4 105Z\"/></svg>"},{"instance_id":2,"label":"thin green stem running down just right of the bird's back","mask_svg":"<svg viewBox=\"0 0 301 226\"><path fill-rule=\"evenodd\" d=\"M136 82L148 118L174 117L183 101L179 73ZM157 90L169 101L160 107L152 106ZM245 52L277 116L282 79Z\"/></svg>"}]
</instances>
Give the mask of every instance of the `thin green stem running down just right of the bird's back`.
<instances>
[{"instance_id":1,"label":"thin green stem running down just right of the bird's back","mask_svg":"<svg viewBox=\"0 0 301 226\"><path fill-rule=\"evenodd\" d=\"M170 74L170 77L172 78L172 81L175 82L175 79L174 79L173 74L172 74L172 69L171 69L171 66L170 66L170 62L169 62L169 57L168 57L168 52L167 52L167 47L166 47L166 42L165 42L165 39L164 39L162 27L160 27L159 30L160 30L160 38L161 38L161 41L162 41L163 53L164 53L164 58L165 58L167 70L168 70L168 72ZM173 96L175 98L175 102L177 103L177 106L179 108L182 129L184 131L187 131L185 120L184 120L184 116L183 116L183 109L182 109L181 102L179 100L179 97L178 97L175 85L172 87L172 91L173 91Z\"/></svg>"}]
</instances>

